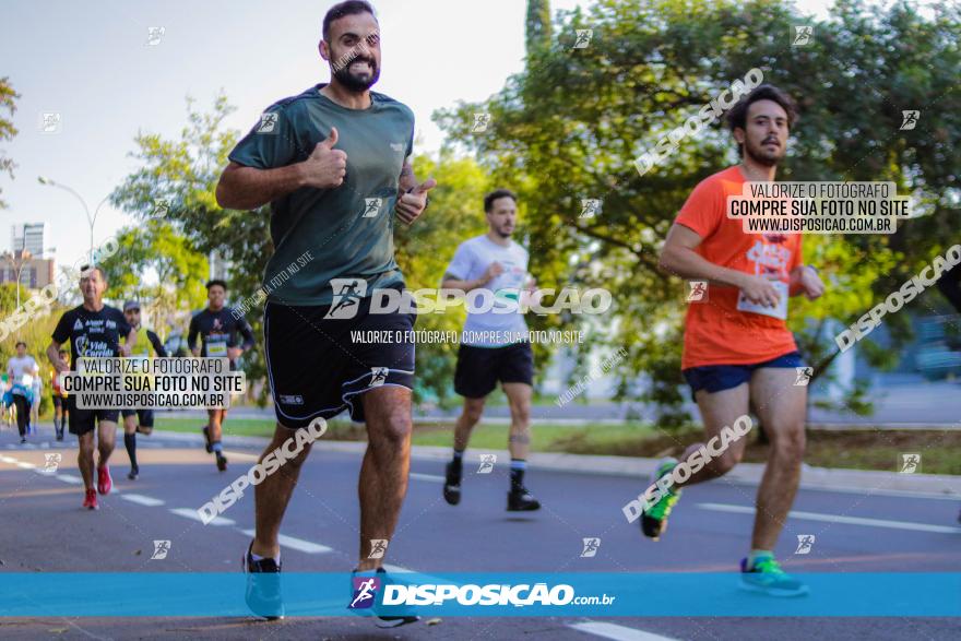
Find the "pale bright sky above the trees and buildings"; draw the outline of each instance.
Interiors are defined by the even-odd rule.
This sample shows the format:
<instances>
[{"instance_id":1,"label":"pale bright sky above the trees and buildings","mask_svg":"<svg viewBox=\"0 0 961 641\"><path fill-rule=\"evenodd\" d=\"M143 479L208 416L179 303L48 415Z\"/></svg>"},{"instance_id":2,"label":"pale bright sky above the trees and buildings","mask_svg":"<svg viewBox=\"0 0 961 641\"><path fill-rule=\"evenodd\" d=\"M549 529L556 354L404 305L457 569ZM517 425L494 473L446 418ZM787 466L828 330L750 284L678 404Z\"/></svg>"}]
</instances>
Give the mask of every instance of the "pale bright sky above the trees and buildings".
<instances>
[{"instance_id":1,"label":"pale bright sky above the trees and buildings","mask_svg":"<svg viewBox=\"0 0 961 641\"><path fill-rule=\"evenodd\" d=\"M590 0L551 0L551 11ZM81 202L37 181L75 190L93 213L135 167L138 131L177 138L186 97L199 108L223 90L237 110L227 127L247 131L275 100L329 80L317 52L323 13L332 1L304 0L3 0L0 76L21 95L20 133L2 144L17 164L0 176L0 251L10 226L47 223L45 244L58 264L87 251L90 227ZM382 73L376 91L413 110L415 152L436 151L443 134L430 120L439 108L498 92L524 58L524 0L378 0ZM819 17L827 0L797 3ZM155 45L150 27L163 27ZM57 131L41 131L44 112L59 114ZM99 245L134 221L108 204L94 228Z\"/></svg>"}]
</instances>

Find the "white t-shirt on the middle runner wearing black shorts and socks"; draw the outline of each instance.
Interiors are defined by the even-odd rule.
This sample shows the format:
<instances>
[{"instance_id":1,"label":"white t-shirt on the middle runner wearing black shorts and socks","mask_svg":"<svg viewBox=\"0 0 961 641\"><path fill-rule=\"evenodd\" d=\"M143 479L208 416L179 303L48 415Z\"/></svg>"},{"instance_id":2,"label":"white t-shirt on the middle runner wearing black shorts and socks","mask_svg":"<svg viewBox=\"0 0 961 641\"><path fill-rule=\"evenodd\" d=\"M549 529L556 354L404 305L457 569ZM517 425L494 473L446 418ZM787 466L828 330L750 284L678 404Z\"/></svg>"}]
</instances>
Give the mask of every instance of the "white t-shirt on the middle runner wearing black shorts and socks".
<instances>
[{"instance_id":1,"label":"white t-shirt on the middle runner wearing black shorts and socks","mask_svg":"<svg viewBox=\"0 0 961 641\"><path fill-rule=\"evenodd\" d=\"M502 347L523 340L527 332L518 305L527 280L527 251L523 247L513 240L500 246L486 235L471 238L458 247L446 273L459 281L474 281L494 262L500 263L503 272L467 293L467 321L462 336L466 345Z\"/></svg>"}]
</instances>

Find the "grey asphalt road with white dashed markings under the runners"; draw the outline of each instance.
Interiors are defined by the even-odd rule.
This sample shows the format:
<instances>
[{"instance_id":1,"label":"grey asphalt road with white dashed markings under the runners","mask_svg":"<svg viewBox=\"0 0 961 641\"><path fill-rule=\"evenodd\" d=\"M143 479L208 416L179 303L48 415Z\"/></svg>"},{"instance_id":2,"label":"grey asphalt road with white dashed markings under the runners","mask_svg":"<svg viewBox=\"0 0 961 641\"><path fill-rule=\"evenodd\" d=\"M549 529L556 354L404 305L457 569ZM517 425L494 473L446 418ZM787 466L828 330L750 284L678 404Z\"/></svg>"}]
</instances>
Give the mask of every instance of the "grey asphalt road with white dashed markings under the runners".
<instances>
[{"instance_id":1,"label":"grey asphalt road with white dashed markings under the runners","mask_svg":"<svg viewBox=\"0 0 961 641\"><path fill-rule=\"evenodd\" d=\"M230 571L252 529L252 497L232 507L221 525L188 518L258 452L228 450L220 474L199 449L162 438L140 438L141 477L127 480L122 444L112 460L118 494L102 509L81 509L75 446L52 441L49 428L23 448L0 431L0 571ZM119 439L118 439L119 440ZM122 443L122 440L120 441ZM58 447L60 446L60 447ZM45 454L60 452L55 475L36 473ZM422 572L443 571L733 571L748 544L754 488L714 482L685 492L660 543L642 539L620 506L640 488L630 478L530 472L529 486L545 509L505 512L506 471L471 474L462 503L440 496L442 465L415 460L407 501L389 561ZM282 541L285 571L348 571L356 562L359 459L318 452L305 466ZM183 510L178 512L177 510ZM956 501L934 497L866 496L804 490L779 546L788 571L961 571L961 527ZM844 517L846 522L832 521ZM864 519L864 521L859 521ZM905 529L918 524L929 527ZM794 555L796 535L812 534L809 555ZM582 538L600 537L593 558L581 558ZM154 539L169 539L164 560L150 560ZM95 590L96 586L92 586ZM656 586L652 586L656 589ZM954 595L958 598L959 595ZM82 595L79 595L79 598ZM689 598L678 595L678 598ZM122 595L118 595L122 598ZM458 618L380 630L355 618L9 618L3 639L949 639L961 620L949 618L731 618L664 617L586 620Z\"/></svg>"}]
</instances>

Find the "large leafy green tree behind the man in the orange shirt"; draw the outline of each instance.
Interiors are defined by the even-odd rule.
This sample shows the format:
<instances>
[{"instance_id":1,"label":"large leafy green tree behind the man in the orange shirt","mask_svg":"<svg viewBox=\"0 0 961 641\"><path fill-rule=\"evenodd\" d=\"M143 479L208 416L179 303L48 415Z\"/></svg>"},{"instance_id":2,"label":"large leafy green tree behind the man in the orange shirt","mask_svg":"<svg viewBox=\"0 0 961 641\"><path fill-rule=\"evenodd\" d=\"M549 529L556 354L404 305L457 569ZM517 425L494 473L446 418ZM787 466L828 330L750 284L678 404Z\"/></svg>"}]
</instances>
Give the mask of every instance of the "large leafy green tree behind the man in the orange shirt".
<instances>
[{"instance_id":1,"label":"large leafy green tree behind the man in the orange shirt","mask_svg":"<svg viewBox=\"0 0 961 641\"><path fill-rule=\"evenodd\" d=\"M662 405L664 424L676 424L684 284L659 271L657 254L691 188L736 154L715 122L643 176L634 159L760 68L766 82L798 99L802 114L779 179L887 180L917 198L924 216L893 236L806 238L806 259L831 289L815 304L799 301L792 329L821 373L838 352L828 319L851 323L942 253L957 230L961 9L935 11L926 20L904 2L880 11L841 1L831 19L815 23L812 45L792 47L792 27L811 21L787 3L600 0L586 16L561 14L551 46L530 55L499 94L436 119L527 202L544 286L612 292L610 331L592 342L628 347L620 395L631 395L638 371L651 375L644 397ZM594 33L590 46L573 49L574 31L585 27ZM923 106L923 132L900 130L901 110L911 106ZM478 111L490 114L480 133L471 131ZM602 199L602 213L581 217L582 199ZM895 341L910 335L907 314L885 323ZM876 361L887 356L866 353Z\"/></svg>"}]
</instances>

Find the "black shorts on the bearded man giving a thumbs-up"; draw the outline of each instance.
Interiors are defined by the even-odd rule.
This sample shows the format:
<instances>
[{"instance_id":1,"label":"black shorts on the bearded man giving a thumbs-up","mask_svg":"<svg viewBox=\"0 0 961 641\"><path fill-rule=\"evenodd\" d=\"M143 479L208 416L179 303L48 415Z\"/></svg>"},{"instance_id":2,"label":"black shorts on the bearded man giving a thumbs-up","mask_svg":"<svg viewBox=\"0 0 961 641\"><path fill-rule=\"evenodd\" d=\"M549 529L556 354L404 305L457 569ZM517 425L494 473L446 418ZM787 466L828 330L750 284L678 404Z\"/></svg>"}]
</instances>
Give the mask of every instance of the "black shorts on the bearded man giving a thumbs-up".
<instances>
[{"instance_id":1,"label":"black shorts on the bearded man giving a thumbs-up","mask_svg":"<svg viewBox=\"0 0 961 641\"><path fill-rule=\"evenodd\" d=\"M370 298L355 300L352 318L324 318L329 305L268 301L264 307L266 370L277 423L284 427L306 427L344 409L363 422L360 394L384 385L414 389L417 314L372 314Z\"/></svg>"}]
</instances>

